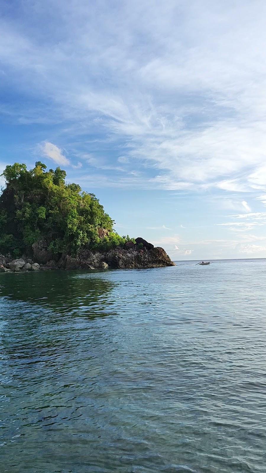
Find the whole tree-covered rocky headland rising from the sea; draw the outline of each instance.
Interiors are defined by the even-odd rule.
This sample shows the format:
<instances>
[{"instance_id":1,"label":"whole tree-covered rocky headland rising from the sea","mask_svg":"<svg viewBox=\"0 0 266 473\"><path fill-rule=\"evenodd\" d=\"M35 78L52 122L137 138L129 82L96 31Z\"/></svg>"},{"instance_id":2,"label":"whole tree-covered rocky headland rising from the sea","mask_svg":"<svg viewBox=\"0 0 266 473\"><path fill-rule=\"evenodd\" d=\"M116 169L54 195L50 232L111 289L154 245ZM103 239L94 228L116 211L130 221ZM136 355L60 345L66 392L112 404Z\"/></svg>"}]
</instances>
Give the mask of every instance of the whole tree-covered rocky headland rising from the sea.
<instances>
[{"instance_id":1,"label":"whole tree-covered rocky headland rising from the sea","mask_svg":"<svg viewBox=\"0 0 266 473\"><path fill-rule=\"evenodd\" d=\"M6 166L0 195L0 272L174 266L161 247L120 236L93 193L41 161Z\"/></svg>"}]
</instances>

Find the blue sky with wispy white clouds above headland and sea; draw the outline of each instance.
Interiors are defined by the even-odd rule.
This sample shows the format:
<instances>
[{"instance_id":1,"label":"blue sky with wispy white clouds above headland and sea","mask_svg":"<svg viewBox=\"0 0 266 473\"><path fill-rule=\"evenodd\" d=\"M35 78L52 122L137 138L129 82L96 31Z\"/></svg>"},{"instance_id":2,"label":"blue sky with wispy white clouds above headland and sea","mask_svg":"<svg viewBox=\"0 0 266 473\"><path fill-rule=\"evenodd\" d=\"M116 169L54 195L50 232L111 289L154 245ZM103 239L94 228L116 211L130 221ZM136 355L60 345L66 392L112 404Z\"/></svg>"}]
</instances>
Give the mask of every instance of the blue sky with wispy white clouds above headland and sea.
<instances>
[{"instance_id":1,"label":"blue sky with wispy white clouds above headland and sea","mask_svg":"<svg viewBox=\"0 0 266 473\"><path fill-rule=\"evenodd\" d=\"M266 257L265 18L265 0L0 0L0 171L61 166L174 260Z\"/></svg>"}]
</instances>

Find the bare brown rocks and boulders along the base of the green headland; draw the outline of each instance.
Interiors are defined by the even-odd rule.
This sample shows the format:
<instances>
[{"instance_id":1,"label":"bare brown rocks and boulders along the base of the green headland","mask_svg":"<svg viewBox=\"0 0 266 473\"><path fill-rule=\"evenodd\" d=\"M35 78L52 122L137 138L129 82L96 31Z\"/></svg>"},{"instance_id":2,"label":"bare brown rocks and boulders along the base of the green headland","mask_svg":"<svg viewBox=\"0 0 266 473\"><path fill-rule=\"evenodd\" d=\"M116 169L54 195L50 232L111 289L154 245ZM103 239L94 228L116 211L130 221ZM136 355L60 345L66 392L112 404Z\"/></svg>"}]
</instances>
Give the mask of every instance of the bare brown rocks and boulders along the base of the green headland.
<instances>
[{"instance_id":1,"label":"bare brown rocks and boulders along the base of the green headland","mask_svg":"<svg viewBox=\"0 0 266 473\"><path fill-rule=\"evenodd\" d=\"M154 247L142 238L117 246L108 251L89 250L83 247L77 257L69 254L53 255L42 240L32 245L33 257L12 259L0 254L0 272L108 269L108 268L159 268L174 266L168 254L161 247ZM10 255L9 255L10 256Z\"/></svg>"}]
</instances>

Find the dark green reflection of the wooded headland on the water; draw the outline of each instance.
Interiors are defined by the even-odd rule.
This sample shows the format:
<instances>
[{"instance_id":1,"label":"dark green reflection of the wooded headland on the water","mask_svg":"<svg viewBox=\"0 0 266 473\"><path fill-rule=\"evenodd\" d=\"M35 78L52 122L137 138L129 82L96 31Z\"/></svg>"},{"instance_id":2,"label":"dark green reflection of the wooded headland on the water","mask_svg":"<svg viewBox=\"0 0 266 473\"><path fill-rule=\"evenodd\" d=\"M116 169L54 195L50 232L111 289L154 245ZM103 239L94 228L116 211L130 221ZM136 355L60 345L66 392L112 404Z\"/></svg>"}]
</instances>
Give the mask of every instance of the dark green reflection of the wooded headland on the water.
<instances>
[{"instance_id":1,"label":"dark green reflection of the wooded headland on the water","mask_svg":"<svg viewBox=\"0 0 266 473\"><path fill-rule=\"evenodd\" d=\"M109 315L111 281L97 277L79 278L79 271L3 274L0 278L0 297L44 306L58 314ZM99 276L101 273L99 273Z\"/></svg>"}]
</instances>

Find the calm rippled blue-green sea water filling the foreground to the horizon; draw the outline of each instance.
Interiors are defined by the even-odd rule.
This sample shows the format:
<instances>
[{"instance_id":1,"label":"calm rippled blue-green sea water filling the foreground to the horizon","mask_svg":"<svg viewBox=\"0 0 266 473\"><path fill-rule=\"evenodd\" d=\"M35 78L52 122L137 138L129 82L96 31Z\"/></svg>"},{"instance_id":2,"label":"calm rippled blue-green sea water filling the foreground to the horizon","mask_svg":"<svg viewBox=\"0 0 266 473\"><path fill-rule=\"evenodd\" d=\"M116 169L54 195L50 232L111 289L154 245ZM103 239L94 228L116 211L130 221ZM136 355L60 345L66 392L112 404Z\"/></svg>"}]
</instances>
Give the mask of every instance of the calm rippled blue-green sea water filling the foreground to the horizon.
<instances>
[{"instance_id":1,"label":"calm rippled blue-green sea water filling the foreground to the horizon","mask_svg":"<svg viewBox=\"0 0 266 473\"><path fill-rule=\"evenodd\" d=\"M0 274L0 472L266 471L266 260Z\"/></svg>"}]
</instances>

